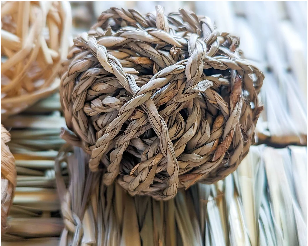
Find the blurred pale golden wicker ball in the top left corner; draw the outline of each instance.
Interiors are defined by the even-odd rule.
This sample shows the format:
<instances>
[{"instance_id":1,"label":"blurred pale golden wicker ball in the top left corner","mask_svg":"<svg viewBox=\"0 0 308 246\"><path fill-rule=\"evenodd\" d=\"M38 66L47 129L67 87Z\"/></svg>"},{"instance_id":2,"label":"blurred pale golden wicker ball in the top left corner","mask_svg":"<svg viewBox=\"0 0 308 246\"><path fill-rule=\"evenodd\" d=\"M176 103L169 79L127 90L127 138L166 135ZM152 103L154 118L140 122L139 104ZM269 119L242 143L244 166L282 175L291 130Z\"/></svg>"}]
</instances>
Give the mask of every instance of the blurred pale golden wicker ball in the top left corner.
<instances>
[{"instance_id":1,"label":"blurred pale golden wicker ball in the top left corner","mask_svg":"<svg viewBox=\"0 0 308 246\"><path fill-rule=\"evenodd\" d=\"M16 114L60 85L70 42L68 2L1 5L1 114Z\"/></svg>"}]
</instances>

